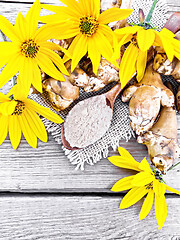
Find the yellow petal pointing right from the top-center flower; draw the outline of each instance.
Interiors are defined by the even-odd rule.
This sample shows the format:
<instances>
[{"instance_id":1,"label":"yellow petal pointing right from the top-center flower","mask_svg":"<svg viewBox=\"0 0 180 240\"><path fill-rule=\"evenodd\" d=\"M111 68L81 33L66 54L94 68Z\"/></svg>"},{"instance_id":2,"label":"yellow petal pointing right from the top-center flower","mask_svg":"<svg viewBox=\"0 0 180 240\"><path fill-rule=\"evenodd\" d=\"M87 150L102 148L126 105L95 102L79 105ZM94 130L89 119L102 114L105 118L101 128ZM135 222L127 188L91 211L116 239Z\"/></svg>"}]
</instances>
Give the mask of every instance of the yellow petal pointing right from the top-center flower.
<instances>
[{"instance_id":1,"label":"yellow petal pointing right from the top-center flower","mask_svg":"<svg viewBox=\"0 0 180 240\"><path fill-rule=\"evenodd\" d=\"M110 8L100 14L98 21L102 24L119 21L129 17L132 12L133 9Z\"/></svg>"}]
</instances>

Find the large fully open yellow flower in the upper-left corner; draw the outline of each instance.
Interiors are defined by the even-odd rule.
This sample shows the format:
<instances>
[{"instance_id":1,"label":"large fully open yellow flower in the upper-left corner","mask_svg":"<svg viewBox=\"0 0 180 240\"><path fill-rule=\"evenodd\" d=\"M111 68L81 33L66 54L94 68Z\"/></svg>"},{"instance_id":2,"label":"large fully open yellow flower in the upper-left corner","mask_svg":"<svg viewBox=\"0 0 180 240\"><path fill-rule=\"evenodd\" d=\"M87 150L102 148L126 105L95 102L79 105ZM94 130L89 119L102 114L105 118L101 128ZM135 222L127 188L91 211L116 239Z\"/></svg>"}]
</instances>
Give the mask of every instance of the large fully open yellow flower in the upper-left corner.
<instances>
[{"instance_id":1,"label":"large fully open yellow flower in the upper-left corner","mask_svg":"<svg viewBox=\"0 0 180 240\"><path fill-rule=\"evenodd\" d=\"M25 17L19 12L14 26L0 15L0 29L11 40L0 42L0 68L6 65L0 75L0 87L19 72L22 81L17 83L26 95L31 84L42 92L40 69L65 81L60 71L67 75L68 72L60 56L53 51L62 49L47 41L51 36L46 26L37 30L40 10L40 2L36 0Z\"/></svg>"}]
</instances>

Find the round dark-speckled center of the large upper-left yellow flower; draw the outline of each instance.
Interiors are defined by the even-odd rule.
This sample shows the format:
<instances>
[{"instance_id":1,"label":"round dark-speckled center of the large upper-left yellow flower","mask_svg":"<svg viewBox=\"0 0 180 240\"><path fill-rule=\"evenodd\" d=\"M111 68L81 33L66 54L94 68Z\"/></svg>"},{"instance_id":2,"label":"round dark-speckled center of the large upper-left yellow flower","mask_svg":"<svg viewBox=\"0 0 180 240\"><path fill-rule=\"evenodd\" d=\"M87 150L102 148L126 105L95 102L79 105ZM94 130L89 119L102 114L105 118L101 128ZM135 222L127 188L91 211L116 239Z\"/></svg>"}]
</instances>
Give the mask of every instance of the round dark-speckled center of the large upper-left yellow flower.
<instances>
[{"instance_id":1,"label":"round dark-speckled center of the large upper-left yellow flower","mask_svg":"<svg viewBox=\"0 0 180 240\"><path fill-rule=\"evenodd\" d=\"M35 58L38 51L39 46L32 39L21 44L21 52L27 58Z\"/></svg>"}]
</instances>

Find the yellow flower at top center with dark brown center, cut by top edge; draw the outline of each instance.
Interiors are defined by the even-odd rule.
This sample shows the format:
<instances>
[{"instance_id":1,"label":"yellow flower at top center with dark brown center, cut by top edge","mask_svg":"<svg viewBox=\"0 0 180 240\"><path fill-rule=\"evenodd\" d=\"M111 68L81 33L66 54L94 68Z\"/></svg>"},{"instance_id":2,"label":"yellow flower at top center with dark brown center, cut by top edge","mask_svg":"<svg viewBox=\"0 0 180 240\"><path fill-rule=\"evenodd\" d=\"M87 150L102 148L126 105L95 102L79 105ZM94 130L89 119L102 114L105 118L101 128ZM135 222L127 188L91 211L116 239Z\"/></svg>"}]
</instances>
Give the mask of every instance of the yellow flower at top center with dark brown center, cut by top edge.
<instances>
[{"instance_id":1,"label":"yellow flower at top center with dark brown center, cut by top edge","mask_svg":"<svg viewBox=\"0 0 180 240\"><path fill-rule=\"evenodd\" d=\"M70 45L71 71L88 52L97 73L101 55L110 61L113 54L113 31L108 23L127 18L133 10L112 8L100 14L100 0L61 0L67 7L42 5L56 14L43 16L42 22L50 24L54 38L75 37ZM54 24L54 25L53 25Z\"/></svg>"}]
</instances>

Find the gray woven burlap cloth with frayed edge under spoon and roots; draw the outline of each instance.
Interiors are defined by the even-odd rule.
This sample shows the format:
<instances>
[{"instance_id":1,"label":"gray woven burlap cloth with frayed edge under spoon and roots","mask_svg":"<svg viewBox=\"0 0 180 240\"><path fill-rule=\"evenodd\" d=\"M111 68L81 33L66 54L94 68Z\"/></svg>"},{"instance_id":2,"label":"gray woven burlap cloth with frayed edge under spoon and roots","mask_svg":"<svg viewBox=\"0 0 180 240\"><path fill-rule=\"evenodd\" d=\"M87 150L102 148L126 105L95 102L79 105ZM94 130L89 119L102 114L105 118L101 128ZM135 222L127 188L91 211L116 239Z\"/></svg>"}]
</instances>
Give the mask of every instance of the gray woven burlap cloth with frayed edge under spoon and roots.
<instances>
[{"instance_id":1,"label":"gray woven burlap cloth with frayed edge under spoon and roots","mask_svg":"<svg viewBox=\"0 0 180 240\"><path fill-rule=\"evenodd\" d=\"M138 23L138 10L139 8L144 10L145 16L147 16L153 0L132 0L132 8L134 12L129 18L129 22ZM156 4L156 8L152 17L152 23L159 27L160 29L163 27L167 19L169 18L168 15L168 6L165 4L165 1L159 0ZM164 77L164 80L169 80L171 78ZM107 92L109 89L112 88L112 84L110 86L106 86L101 91L95 93L85 93L84 91L80 91L80 97L77 101L75 101L71 107L66 109L65 111L60 111L58 114L65 120L67 113L69 110L79 101L83 99L89 98L91 96L95 96L97 94L101 94ZM43 106L50 107L49 103L45 101L45 99L38 94L31 95L31 98L40 103ZM51 108L52 109L52 108ZM56 112L54 109L52 109ZM43 119L43 122L46 126L47 131L52 134L53 138L57 143L62 146L61 142L61 128L62 126L59 124L52 123L47 119ZM102 158L106 158L108 156L108 151L112 148L116 150L118 146L121 145L121 140L128 141L134 134L129 125L129 114L128 114L128 104L122 103L120 98L118 97L115 106L114 106L114 113L111 126L106 134L99 139L94 144L81 149L81 150L74 150L70 151L65 149L63 146L63 150L65 155L68 157L71 164L76 166L76 169L80 168L81 170L84 169L85 163L94 165Z\"/></svg>"}]
</instances>

